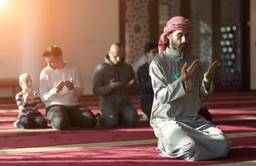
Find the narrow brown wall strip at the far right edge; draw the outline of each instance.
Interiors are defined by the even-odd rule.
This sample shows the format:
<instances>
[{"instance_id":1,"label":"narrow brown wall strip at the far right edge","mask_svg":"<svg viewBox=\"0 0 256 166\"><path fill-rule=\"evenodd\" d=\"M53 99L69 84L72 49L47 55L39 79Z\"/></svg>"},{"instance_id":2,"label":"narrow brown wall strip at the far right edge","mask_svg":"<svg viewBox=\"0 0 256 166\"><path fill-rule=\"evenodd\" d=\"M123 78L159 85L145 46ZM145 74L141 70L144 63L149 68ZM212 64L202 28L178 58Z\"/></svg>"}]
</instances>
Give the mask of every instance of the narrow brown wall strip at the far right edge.
<instances>
[{"instance_id":1,"label":"narrow brown wall strip at the far right edge","mask_svg":"<svg viewBox=\"0 0 256 166\"><path fill-rule=\"evenodd\" d=\"M256 1L250 0L250 89L256 90Z\"/></svg>"}]
</instances>

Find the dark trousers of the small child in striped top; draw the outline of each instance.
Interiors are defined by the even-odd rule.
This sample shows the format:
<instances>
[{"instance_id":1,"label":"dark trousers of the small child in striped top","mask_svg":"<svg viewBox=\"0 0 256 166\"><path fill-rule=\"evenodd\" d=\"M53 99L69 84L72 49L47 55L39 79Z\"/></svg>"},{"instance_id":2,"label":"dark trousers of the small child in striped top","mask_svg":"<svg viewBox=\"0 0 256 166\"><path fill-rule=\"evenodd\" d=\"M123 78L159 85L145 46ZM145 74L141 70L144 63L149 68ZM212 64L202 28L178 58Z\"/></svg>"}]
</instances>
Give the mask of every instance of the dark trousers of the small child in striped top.
<instances>
[{"instance_id":1,"label":"dark trousers of the small child in striped top","mask_svg":"<svg viewBox=\"0 0 256 166\"><path fill-rule=\"evenodd\" d=\"M26 116L20 116L16 126L19 129L46 128L47 121L42 116L42 113L35 112L29 113Z\"/></svg>"}]
</instances>

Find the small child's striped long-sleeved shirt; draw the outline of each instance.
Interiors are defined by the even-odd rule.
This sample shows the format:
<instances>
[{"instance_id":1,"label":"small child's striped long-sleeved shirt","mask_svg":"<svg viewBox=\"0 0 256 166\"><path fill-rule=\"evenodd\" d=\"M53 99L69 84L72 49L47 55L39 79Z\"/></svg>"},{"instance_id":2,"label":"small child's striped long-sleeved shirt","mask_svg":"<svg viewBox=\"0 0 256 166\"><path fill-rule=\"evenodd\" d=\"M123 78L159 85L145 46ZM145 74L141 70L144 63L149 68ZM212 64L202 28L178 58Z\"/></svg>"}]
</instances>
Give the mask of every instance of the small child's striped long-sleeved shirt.
<instances>
[{"instance_id":1,"label":"small child's striped long-sleeved shirt","mask_svg":"<svg viewBox=\"0 0 256 166\"><path fill-rule=\"evenodd\" d=\"M33 91L33 93L35 93L35 91ZM28 115L28 113L38 112L39 108L40 97L38 93L36 93L35 95L35 102L31 102L31 100L28 100L28 103L24 102L23 95L24 93L20 91L19 93L17 93L15 97L17 106L19 108L18 118L20 116Z\"/></svg>"}]
</instances>

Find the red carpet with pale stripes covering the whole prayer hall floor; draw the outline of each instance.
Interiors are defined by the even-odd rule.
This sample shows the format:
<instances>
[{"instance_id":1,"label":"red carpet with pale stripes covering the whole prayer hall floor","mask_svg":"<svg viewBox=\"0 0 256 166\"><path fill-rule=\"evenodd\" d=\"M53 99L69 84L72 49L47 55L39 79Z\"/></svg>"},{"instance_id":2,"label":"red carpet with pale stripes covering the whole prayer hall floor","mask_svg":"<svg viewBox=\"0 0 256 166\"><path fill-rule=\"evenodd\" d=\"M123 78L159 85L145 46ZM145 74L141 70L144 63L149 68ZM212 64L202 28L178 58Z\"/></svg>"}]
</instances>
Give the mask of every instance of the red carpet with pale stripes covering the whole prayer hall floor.
<instances>
[{"instance_id":1,"label":"red carpet with pale stripes covering the whole prayer hall floor","mask_svg":"<svg viewBox=\"0 0 256 166\"><path fill-rule=\"evenodd\" d=\"M132 99L141 114L138 98ZM79 103L100 112L98 98L83 97ZM159 156L157 139L148 122L115 129L17 129L12 126L17 118L15 102L0 99L0 165L193 166L256 160L256 92L214 93L203 103L212 113L212 123L232 140L227 158L189 162ZM44 114L44 106L40 108Z\"/></svg>"}]
</instances>

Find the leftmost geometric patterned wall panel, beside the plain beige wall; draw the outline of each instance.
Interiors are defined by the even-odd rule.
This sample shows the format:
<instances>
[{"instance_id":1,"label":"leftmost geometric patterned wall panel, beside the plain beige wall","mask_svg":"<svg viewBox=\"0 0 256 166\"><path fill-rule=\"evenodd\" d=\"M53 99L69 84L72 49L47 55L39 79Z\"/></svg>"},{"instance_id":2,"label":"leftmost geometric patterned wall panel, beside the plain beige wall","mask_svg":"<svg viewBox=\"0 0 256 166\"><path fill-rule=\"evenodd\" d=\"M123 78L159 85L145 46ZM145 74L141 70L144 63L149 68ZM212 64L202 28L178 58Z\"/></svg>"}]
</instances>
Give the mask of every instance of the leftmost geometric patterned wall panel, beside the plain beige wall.
<instances>
[{"instance_id":1,"label":"leftmost geometric patterned wall panel, beside the plain beige wall","mask_svg":"<svg viewBox=\"0 0 256 166\"><path fill-rule=\"evenodd\" d=\"M125 50L126 62L134 64L144 55L149 40L149 0L126 0Z\"/></svg>"}]
</instances>

